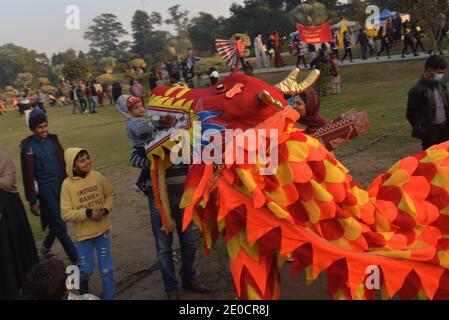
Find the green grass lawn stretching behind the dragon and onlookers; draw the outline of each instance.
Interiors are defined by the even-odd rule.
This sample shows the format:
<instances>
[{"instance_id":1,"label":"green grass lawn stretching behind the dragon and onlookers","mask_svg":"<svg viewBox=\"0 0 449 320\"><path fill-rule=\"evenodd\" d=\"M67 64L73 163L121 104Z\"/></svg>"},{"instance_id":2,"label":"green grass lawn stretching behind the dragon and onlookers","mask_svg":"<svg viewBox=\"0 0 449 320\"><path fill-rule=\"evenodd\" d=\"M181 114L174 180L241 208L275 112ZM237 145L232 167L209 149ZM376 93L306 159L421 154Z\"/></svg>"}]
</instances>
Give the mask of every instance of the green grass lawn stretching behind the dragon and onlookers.
<instances>
[{"instance_id":1,"label":"green grass lawn stretching behind the dragon and onlookers","mask_svg":"<svg viewBox=\"0 0 449 320\"><path fill-rule=\"evenodd\" d=\"M420 150L419 141L410 137L410 127L404 115L408 89L420 76L423 63L424 60L418 60L345 66L341 69L342 94L323 98L321 113L328 120L353 107L369 114L373 128L336 152L362 184L371 181L400 158ZM275 73L261 75L260 78L276 83L285 76L286 73ZM99 107L98 112L94 115L72 115L71 107L55 107L48 110L49 126L51 132L58 134L65 148L88 149L95 168L107 175L108 171L129 166L131 145L124 131L125 117L114 106ZM12 110L7 116L0 117L0 128L0 149L13 156L23 195L19 144L30 131L25 120ZM348 155L379 137L383 139L371 148ZM36 238L42 238L38 219L30 220Z\"/></svg>"}]
</instances>

